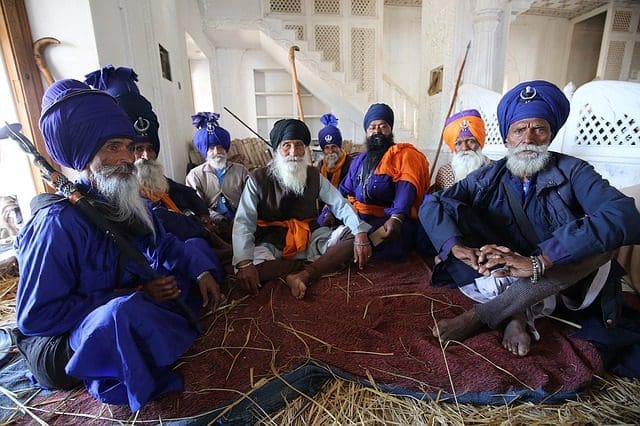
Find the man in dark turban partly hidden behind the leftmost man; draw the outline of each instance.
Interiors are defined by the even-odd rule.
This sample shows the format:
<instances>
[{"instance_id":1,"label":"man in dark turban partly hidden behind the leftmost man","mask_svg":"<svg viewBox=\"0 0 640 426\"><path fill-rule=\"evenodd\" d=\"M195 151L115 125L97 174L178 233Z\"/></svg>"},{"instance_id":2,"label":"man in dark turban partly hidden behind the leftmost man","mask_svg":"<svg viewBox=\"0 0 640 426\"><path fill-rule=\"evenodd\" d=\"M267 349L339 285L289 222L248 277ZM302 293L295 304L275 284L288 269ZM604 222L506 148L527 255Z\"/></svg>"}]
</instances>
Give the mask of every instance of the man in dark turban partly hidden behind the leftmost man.
<instances>
[{"instance_id":1,"label":"man in dark turban partly hidden behind the leftmost man","mask_svg":"<svg viewBox=\"0 0 640 426\"><path fill-rule=\"evenodd\" d=\"M165 230L182 241L204 238L224 263L230 262L231 246L217 235L205 202L192 188L164 175L164 167L157 160L160 152L158 117L151 103L140 93L137 80L133 69L111 65L86 76L88 84L113 96L129 116L136 131L133 154L140 192L151 202ZM203 250L213 255L206 246Z\"/></svg>"}]
</instances>

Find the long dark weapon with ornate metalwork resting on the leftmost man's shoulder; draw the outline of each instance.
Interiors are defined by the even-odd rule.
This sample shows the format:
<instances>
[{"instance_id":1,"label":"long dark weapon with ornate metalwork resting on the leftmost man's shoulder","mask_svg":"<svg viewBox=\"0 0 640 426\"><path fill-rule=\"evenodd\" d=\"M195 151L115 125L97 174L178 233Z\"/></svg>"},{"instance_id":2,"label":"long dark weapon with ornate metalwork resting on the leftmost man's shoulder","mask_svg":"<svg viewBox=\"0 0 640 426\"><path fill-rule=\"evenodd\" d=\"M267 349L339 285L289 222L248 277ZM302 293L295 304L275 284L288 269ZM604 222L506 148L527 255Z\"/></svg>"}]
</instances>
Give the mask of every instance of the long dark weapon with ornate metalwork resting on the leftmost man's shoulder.
<instances>
[{"instance_id":1,"label":"long dark weapon with ornate metalwork resting on the leftmost man's shoulder","mask_svg":"<svg viewBox=\"0 0 640 426\"><path fill-rule=\"evenodd\" d=\"M93 223L102 232L107 235L126 258L133 261L140 267L144 268L153 278L159 278L160 275L149 266L147 259L140 253L129 240L120 235L108 220L89 202L75 183L71 182L65 175L53 168L47 160L40 155L33 143L22 133L20 133L22 125L20 123L9 124L5 122L5 126L0 129L0 139L11 138L18 143L20 148L28 155L32 156L33 163L40 169L42 177L55 189L60 191L69 202L80 211L89 222ZM191 312L187 304L180 297L174 299L182 315L187 319L189 324L202 334L202 327L197 318Z\"/></svg>"}]
</instances>

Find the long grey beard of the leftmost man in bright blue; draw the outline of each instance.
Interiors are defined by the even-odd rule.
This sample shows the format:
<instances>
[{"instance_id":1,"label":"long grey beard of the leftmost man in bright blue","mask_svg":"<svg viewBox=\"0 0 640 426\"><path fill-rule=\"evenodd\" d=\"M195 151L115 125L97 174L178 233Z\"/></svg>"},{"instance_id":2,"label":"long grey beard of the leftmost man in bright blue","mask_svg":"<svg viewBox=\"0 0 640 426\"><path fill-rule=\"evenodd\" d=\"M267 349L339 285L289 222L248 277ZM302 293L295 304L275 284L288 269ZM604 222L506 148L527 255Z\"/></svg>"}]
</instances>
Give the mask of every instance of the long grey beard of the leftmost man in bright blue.
<instances>
[{"instance_id":1,"label":"long grey beard of the leftmost man in bright blue","mask_svg":"<svg viewBox=\"0 0 640 426\"><path fill-rule=\"evenodd\" d=\"M140 196L140 186L135 174L120 176L126 170L133 169L131 164L120 166L104 166L93 174L98 192L109 201L114 208L112 219L116 222L140 222L148 228L155 238L155 228L151 212Z\"/></svg>"}]
</instances>

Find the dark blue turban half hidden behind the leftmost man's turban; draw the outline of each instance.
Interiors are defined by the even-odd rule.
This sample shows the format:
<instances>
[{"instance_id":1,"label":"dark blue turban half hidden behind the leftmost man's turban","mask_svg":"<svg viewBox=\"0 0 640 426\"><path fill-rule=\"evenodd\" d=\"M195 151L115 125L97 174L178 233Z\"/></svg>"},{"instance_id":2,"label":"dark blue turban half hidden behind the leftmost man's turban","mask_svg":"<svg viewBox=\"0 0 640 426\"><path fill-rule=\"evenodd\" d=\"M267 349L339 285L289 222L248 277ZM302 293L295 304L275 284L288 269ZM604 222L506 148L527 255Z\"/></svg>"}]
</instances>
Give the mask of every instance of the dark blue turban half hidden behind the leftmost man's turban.
<instances>
[{"instance_id":1,"label":"dark blue turban half hidden behind the leftmost man's turban","mask_svg":"<svg viewBox=\"0 0 640 426\"><path fill-rule=\"evenodd\" d=\"M158 154L160 123L151 103L140 94L136 81L138 74L133 69L114 68L113 65L107 65L85 76L85 83L109 93L127 113L137 133L134 143L150 143Z\"/></svg>"}]
</instances>

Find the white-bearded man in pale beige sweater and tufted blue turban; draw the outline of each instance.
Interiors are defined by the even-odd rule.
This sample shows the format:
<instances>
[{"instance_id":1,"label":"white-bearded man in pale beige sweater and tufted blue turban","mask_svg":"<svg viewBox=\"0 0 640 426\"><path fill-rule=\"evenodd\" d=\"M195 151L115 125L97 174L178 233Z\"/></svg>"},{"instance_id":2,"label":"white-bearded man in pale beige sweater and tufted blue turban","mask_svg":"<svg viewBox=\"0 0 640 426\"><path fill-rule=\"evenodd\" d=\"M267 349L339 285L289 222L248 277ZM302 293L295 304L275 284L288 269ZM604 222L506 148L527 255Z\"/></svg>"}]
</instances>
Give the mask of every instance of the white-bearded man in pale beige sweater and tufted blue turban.
<instances>
[{"instance_id":1,"label":"white-bearded man in pale beige sweater and tufted blue turban","mask_svg":"<svg viewBox=\"0 0 640 426\"><path fill-rule=\"evenodd\" d=\"M199 112L191 118L198 129L193 144L206 161L191 169L186 183L205 201L221 236L231 241L233 217L249 172L242 164L227 161L231 136L218 124L220 114Z\"/></svg>"}]
</instances>

